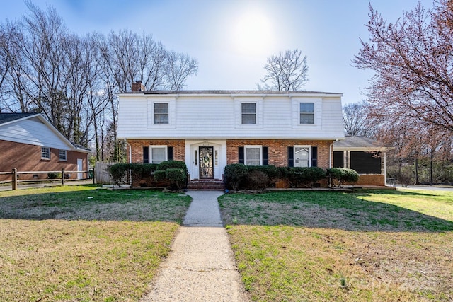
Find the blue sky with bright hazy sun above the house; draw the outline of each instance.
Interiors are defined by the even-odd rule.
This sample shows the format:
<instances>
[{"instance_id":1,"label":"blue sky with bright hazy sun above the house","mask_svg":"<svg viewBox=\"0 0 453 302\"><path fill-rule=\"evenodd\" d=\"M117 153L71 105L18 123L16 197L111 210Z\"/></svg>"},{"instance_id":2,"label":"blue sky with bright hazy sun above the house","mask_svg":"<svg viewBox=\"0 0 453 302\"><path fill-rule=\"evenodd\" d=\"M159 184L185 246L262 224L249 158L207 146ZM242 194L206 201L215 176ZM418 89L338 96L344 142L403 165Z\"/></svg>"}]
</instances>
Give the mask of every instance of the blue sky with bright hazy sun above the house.
<instances>
[{"instance_id":1,"label":"blue sky with bright hazy sun above the house","mask_svg":"<svg viewBox=\"0 0 453 302\"><path fill-rule=\"evenodd\" d=\"M21 0L1 0L0 18L28 13ZM369 2L395 22L418 0L35 0L53 6L71 32L149 33L168 50L197 59L186 89L256 89L266 58L299 48L307 56L307 91L343 93L343 104L364 98L371 71L351 66L367 40ZM422 0L425 8L432 0Z\"/></svg>"}]
</instances>

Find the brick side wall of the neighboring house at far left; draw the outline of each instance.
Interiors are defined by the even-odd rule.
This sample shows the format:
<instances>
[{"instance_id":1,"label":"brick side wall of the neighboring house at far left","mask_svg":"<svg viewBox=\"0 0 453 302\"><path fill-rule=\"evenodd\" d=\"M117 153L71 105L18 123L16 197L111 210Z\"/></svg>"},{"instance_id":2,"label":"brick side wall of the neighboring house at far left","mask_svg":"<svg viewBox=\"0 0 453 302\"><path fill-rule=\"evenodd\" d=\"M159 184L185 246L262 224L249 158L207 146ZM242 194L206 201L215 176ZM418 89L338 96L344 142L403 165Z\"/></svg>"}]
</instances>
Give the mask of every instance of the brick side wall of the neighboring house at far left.
<instances>
[{"instance_id":1,"label":"brick side wall of the neighboring house at far left","mask_svg":"<svg viewBox=\"0 0 453 302\"><path fill-rule=\"evenodd\" d=\"M59 161L59 149L50 149L50 160L41 158L41 147L21 144L13 141L1 141L0 171L11 172L12 168L21 171L67 171L77 170L77 159L83 160L84 170L88 170L87 154L67 151L67 161ZM66 172L65 172L66 173ZM87 175L84 175L86 178ZM33 174L21 174L23 180L31 180ZM46 179L47 173L39 173L38 179ZM76 179L77 173L71 173L70 179ZM11 180L11 175L0 175L1 180Z\"/></svg>"}]
</instances>

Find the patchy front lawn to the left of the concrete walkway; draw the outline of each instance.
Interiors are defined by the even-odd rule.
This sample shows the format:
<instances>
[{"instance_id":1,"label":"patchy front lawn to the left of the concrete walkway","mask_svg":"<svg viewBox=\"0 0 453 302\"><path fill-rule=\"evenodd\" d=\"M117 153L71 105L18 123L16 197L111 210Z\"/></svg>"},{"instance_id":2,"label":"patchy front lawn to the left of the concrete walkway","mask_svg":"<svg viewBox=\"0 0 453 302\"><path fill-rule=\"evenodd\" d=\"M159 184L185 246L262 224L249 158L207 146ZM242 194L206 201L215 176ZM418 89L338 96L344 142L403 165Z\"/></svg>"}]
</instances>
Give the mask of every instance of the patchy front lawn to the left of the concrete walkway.
<instances>
[{"instance_id":1,"label":"patchy front lawn to the left of the concrete walkway","mask_svg":"<svg viewBox=\"0 0 453 302\"><path fill-rule=\"evenodd\" d=\"M1 300L139 300L189 204L90 186L0 192Z\"/></svg>"}]
</instances>

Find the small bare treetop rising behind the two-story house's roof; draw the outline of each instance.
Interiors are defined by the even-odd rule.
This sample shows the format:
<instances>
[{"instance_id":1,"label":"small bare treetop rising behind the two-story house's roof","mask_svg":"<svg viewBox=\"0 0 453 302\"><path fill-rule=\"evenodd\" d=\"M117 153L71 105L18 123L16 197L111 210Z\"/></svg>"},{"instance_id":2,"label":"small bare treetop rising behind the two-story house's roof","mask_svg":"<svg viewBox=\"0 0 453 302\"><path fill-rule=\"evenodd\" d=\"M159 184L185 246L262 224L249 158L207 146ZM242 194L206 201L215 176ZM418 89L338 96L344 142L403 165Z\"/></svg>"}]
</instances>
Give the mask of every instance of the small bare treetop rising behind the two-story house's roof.
<instances>
[{"instance_id":1,"label":"small bare treetop rising behind the two-story house's roof","mask_svg":"<svg viewBox=\"0 0 453 302\"><path fill-rule=\"evenodd\" d=\"M286 50L268 57L266 75L257 84L259 90L300 91L309 81L306 56L299 49Z\"/></svg>"}]
</instances>

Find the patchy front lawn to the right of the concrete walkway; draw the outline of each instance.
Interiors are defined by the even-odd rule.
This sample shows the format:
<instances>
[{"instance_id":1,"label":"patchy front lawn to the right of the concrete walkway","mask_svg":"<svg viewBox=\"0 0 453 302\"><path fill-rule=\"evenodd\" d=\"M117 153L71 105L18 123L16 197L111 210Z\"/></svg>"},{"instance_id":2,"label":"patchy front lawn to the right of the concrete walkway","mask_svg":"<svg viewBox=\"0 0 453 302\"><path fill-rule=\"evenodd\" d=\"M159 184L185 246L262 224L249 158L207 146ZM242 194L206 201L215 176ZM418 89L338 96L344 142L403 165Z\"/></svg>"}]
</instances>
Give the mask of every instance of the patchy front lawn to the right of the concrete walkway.
<instances>
[{"instance_id":1,"label":"patchy front lawn to the right of the concrete walkway","mask_svg":"<svg viewBox=\"0 0 453 302\"><path fill-rule=\"evenodd\" d=\"M382 190L219 198L253 301L451 301L453 194Z\"/></svg>"}]
</instances>

